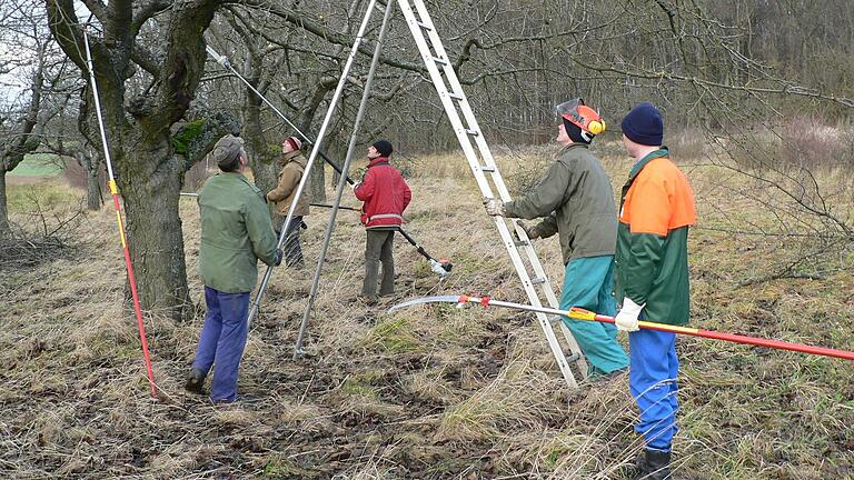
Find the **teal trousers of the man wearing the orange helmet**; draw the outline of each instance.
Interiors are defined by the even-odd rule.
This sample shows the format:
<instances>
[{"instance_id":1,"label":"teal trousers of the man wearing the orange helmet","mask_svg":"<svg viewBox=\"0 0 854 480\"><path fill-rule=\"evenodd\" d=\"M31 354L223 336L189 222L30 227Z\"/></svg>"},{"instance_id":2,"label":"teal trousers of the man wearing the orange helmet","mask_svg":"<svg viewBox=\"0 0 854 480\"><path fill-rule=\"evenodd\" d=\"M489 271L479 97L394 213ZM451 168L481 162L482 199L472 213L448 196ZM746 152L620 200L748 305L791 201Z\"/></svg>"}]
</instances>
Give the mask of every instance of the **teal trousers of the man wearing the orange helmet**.
<instances>
[{"instance_id":1,"label":"teal trousers of the man wearing the orange helmet","mask_svg":"<svg viewBox=\"0 0 854 480\"><path fill-rule=\"evenodd\" d=\"M579 307L606 316L614 316L614 256L587 257L566 264L560 309ZM617 343L617 328L610 323L572 320L564 323L587 357L587 374L605 374L628 367L628 356Z\"/></svg>"}]
</instances>

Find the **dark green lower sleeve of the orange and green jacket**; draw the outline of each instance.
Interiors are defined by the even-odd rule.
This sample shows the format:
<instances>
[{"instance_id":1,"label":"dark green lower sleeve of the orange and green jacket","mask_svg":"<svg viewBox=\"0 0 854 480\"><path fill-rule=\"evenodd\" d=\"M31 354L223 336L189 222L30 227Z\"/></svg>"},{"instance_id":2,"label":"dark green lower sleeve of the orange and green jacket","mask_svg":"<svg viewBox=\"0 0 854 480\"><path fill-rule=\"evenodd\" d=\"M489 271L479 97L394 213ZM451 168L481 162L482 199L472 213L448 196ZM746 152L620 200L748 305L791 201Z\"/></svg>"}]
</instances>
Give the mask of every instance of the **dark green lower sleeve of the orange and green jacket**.
<instances>
[{"instance_id":1,"label":"dark green lower sleeve of the orange and green jacket","mask_svg":"<svg viewBox=\"0 0 854 480\"><path fill-rule=\"evenodd\" d=\"M629 254L624 260L624 294L637 304L646 303L653 290L664 254L665 237L656 233L629 233ZM619 299L622 300L622 299Z\"/></svg>"}]
</instances>

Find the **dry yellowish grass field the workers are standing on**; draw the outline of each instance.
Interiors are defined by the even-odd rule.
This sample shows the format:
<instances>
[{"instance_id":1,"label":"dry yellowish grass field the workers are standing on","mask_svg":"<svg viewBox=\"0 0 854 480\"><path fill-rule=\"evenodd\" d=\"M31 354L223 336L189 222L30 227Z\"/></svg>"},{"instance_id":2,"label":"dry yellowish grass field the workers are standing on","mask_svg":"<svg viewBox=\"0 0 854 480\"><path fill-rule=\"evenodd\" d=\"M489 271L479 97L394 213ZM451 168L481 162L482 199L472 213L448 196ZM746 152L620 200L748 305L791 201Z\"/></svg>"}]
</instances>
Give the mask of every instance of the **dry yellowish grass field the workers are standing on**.
<instances>
[{"instance_id":1,"label":"dry yellowish grass field the workers are standing on","mask_svg":"<svg viewBox=\"0 0 854 480\"><path fill-rule=\"evenodd\" d=\"M600 152L618 191L630 166L612 151ZM752 189L748 180L679 160L699 213L689 247L693 326L854 350L851 246L810 260L814 274L791 276L812 278L769 278L818 239L731 232L771 226L775 216L736 193ZM500 159L513 189L547 161L543 151ZM398 237L397 300L485 293L525 301L464 164L445 156L409 167L407 228L455 267L439 283ZM843 179L827 172L820 180L838 190L837 211L851 219L854 187ZM70 218L83 194L58 181L10 190L12 220L31 231L41 219L50 231ZM627 379L567 390L533 316L440 306L388 314L390 302L358 302L364 230L348 211L324 267L306 358L291 354L325 209L312 210L302 237L311 267L274 274L246 349L241 400L215 407L186 393L203 294L198 209L181 201L198 309L187 323L147 314L159 402L149 398L136 323L122 308L111 208L75 218L62 241L0 251L0 477L620 479L642 448ZM346 204L357 203L350 197ZM557 239L536 248L559 286ZM676 479L854 478L854 363L697 338L681 338L677 348Z\"/></svg>"}]
</instances>

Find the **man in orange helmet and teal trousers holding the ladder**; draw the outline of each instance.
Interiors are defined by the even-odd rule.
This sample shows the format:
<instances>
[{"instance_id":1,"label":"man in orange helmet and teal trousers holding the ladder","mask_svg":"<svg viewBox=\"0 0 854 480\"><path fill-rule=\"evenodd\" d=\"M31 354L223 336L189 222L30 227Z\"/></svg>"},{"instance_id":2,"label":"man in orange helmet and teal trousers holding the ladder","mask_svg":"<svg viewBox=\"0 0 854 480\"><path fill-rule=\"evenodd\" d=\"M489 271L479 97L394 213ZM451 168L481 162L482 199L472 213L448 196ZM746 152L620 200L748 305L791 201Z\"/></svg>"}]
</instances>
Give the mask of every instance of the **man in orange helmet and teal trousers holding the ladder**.
<instances>
[{"instance_id":1,"label":"man in orange helmet and teal trousers holding the ladder","mask_svg":"<svg viewBox=\"0 0 854 480\"><path fill-rule=\"evenodd\" d=\"M544 218L526 227L529 239L560 236L565 277L560 309L580 307L603 314L616 312L614 297L614 244L617 214L610 179L588 150L604 131L598 113L575 99L557 107L562 121L556 141L564 146L557 161L524 198L503 203L487 199L489 214L510 218ZM564 322L589 360L590 376L625 370L628 357L617 343L617 329L609 323L570 320Z\"/></svg>"}]
</instances>

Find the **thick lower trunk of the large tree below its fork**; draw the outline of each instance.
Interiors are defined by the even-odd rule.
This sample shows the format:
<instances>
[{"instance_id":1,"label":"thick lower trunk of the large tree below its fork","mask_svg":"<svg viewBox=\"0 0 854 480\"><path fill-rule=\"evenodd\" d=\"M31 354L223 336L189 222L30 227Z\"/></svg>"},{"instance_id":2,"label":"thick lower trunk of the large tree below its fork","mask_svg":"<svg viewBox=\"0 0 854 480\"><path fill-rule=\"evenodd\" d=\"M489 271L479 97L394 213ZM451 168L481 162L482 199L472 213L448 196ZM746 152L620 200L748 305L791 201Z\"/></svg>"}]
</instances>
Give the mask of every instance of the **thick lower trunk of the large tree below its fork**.
<instances>
[{"instance_id":1,"label":"thick lower trunk of the large tree below its fork","mask_svg":"<svg viewBox=\"0 0 854 480\"><path fill-rule=\"evenodd\" d=\"M142 132L140 132L142 133ZM176 157L168 137L140 134L127 152L120 172L125 198L128 248L137 276L139 299L146 309L172 319L187 319L192 306L187 288L181 219L178 201L183 160ZM159 164L150 159L167 160Z\"/></svg>"}]
</instances>

